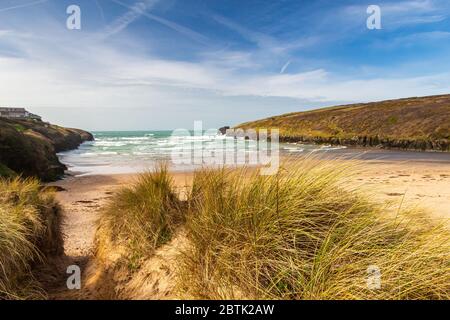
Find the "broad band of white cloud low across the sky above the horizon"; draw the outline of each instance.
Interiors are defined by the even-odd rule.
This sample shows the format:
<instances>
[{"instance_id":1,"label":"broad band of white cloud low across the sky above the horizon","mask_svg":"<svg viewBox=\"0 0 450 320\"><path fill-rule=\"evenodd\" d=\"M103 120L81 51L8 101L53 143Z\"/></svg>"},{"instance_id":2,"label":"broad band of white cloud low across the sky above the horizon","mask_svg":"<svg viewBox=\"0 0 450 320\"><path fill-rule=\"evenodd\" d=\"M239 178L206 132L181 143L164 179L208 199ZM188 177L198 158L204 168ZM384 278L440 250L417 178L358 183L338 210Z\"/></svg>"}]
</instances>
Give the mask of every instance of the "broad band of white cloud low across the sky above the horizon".
<instances>
[{"instance_id":1,"label":"broad band of white cloud low across the sky above the horizon","mask_svg":"<svg viewBox=\"0 0 450 320\"><path fill-rule=\"evenodd\" d=\"M69 46L61 56L40 41L14 39L17 48L34 55L0 58L0 104L5 105L120 108L157 104L163 110L166 104L183 104L189 96L199 108L211 108L207 98L211 95L370 101L445 93L450 82L448 73L351 80L323 69L243 74L221 66L213 56L199 62L164 60L93 42L78 43L85 48L81 54L71 50L70 41L61 43Z\"/></svg>"}]
</instances>

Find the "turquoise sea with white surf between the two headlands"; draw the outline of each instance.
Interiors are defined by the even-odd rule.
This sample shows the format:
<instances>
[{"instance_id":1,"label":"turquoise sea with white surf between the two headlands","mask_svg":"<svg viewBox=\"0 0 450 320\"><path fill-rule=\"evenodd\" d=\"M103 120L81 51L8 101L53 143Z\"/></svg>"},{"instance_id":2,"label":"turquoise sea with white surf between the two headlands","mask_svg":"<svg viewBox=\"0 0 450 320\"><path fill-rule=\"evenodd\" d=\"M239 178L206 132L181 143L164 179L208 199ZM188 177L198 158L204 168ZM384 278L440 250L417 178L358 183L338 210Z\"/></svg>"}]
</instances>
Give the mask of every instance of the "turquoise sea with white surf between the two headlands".
<instances>
[{"instance_id":1,"label":"turquoise sea with white surf between the two headlands","mask_svg":"<svg viewBox=\"0 0 450 320\"><path fill-rule=\"evenodd\" d=\"M174 135L171 130L92 133L94 141L85 142L76 150L58 154L60 161L75 176L137 173L153 170L161 163L166 163L174 171L190 171L208 164L219 165L215 161L219 156L232 159L231 153L241 152L246 155L246 159L250 159L261 151L255 141L243 139L237 143L234 137L207 132L200 135L190 131ZM289 143L279 145L279 154L306 154L342 148ZM200 160L195 158L199 154ZM227 155L230 157L226 158ZM226 160L224 162L228 164ZM242 163L237 161L236 164Z\"/></svg>"}]
</instances>

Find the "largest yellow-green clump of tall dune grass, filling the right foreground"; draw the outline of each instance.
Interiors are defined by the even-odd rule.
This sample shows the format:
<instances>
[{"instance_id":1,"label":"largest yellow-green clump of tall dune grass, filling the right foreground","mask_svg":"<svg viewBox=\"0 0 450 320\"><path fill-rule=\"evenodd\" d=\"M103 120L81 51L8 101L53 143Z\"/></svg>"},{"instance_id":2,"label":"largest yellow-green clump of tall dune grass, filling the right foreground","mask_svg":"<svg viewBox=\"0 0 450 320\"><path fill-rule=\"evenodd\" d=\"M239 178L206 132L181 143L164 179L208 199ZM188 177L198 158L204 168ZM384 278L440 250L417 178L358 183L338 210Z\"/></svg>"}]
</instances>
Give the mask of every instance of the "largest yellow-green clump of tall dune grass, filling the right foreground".
<instances>
[{"instance_id":1,"label":"largest yellow-green clump of tall dune grass, filling the right foreground","mask_svg":"<svg viewBox=\"0 0 450 320\"><path fill-rule=\"evenodd\" d=\"M348 188L347 166L305 160L275 176L194 178L181 290L202 299L449 299L450 237ZM367 285L368 268L381 288Z\"/></svg>"}]
</instances>

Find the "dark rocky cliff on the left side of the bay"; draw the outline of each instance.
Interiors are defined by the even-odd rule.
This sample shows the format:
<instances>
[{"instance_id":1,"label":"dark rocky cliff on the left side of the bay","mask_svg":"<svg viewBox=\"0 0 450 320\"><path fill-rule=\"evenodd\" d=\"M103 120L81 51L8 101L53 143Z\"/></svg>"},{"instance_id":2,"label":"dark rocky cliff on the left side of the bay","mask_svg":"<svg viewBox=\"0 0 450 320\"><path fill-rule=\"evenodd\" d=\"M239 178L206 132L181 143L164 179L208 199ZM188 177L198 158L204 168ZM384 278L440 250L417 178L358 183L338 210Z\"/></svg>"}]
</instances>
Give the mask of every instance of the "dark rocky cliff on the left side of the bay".
<instances>
[{"instance_id":1,"label":"dark rocky cliff on the left side of the bay","mask_svg":"<svg viewBox=\"0 0 450 320\"><path fill-rule=\"evenodd\" d=\"M0 176L15 172L44 181L56 180L66 169L56 153L76 149L93 139L92 134L79 129L0 118Z\"/></svg>"}]
</instances>

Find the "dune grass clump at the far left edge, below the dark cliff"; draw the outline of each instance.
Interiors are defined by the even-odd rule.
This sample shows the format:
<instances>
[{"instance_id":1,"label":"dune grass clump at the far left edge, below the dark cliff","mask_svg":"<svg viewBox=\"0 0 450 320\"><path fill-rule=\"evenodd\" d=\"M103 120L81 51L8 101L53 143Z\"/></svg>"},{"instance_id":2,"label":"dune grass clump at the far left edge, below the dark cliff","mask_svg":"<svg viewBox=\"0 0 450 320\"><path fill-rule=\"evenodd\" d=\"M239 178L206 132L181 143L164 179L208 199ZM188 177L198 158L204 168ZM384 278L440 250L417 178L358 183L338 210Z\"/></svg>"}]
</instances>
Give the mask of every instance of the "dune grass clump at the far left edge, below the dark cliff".
<instances>
[{"instance_id":1,"label":"dune grass clump at the far left edge, below the dark cliff","mask_svg":"<svg viewBox=\"0 0 450 320\"><path fill-rule=\"evenodd\" d=\"M62 250L59 208L35 179L0 179L0 299L44 298L32 269Z\"/></svg>"}]
</instances>

